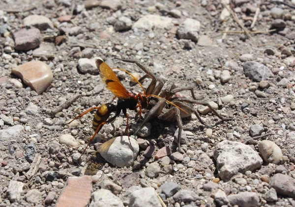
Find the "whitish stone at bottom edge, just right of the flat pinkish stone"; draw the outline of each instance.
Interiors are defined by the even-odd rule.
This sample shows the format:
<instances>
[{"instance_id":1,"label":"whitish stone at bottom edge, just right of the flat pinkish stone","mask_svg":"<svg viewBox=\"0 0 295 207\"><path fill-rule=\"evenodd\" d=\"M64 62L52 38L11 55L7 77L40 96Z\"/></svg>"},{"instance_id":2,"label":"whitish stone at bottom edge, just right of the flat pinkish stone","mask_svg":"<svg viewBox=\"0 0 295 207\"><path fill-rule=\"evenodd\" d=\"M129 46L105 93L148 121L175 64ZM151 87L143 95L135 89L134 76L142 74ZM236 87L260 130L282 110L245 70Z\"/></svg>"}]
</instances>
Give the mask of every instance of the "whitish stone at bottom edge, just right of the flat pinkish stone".
<instances>
[{"instance_id":1,"label":"whitish stone at bottom edge, just right of the flat pinkish stone","mask_svg":"<svg viewBox=\"0 0 295 207\"><path fill-rule=\"evenodd\" d=\"M111 191L100 189L91 194L89 207L124 207L124 205Z\"/></svg>"}]
</instances>

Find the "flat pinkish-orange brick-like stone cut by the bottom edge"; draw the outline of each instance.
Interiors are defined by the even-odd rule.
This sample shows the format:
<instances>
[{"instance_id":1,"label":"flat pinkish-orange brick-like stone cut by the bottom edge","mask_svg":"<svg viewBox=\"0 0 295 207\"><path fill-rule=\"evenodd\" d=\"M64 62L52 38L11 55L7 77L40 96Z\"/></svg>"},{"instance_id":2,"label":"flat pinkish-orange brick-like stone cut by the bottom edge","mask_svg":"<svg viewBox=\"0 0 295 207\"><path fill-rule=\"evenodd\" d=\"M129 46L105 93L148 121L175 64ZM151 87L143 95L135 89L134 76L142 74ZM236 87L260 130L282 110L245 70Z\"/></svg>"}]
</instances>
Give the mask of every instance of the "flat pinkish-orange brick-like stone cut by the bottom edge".
<instances>
[{"instance_id":1,"label":"flat pinkish-orange brick-like stone cut by the bottom edge","mask_svg":"<svg viewBox=\"0 0 295 207\"><path fill-rule=\"evenodd\" d=\"M56 207L86 207L92 192L91 176L68 178Z\"/></svg>"}]
</instances>

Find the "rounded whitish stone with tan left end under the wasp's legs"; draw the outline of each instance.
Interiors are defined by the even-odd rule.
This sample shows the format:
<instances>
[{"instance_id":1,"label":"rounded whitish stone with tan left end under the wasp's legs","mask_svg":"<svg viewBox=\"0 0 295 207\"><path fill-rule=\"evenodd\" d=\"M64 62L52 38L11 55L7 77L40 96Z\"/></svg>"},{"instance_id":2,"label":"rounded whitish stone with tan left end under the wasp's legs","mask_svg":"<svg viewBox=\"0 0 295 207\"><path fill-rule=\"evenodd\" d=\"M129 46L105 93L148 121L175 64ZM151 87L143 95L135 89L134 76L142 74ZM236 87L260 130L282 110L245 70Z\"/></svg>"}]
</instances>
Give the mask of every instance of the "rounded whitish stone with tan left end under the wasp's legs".
<instances>
[{"instance_id":1,"label":"rounded whitish stone with tan left end under the wasp's legs","mask_svg":"<svg viewBox=\"0 0 295 207\"><path fill-rule=\"evenodd\" d=\"M132 166L139 152L137 141L130 137L134 152L130 148L128 136L118 136L100 145L97 152L111 164L117 167Z\"/></svg>"}]
</instances>

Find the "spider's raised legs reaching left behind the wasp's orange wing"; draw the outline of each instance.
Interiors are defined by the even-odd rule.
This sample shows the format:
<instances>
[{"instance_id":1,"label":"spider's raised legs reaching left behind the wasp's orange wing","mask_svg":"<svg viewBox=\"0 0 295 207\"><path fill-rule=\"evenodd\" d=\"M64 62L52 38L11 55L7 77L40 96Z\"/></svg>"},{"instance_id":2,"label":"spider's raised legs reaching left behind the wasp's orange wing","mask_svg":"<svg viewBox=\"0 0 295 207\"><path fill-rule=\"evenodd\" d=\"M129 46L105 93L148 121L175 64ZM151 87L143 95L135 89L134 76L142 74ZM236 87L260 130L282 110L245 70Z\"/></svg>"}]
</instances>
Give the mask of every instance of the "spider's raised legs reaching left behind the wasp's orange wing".
<instances>
[{"instance_id":1,"label":"spider's raised legs reaching left behind the wasp's orange wing","mask_svg":"<svg viewBox=\"0 0 295 207\"><path fill-rule=\"evenodd\" d=\"M146 68L143 64L141 64L139 61L137 60L130 60L130 59L121 59L118 57L115 57L118 60L121 60L123 62L130 62L130 63L135 63L140 69L142 69L145 73L146 76L144 76L145 78L152 78L150 84L148 85L148 88L146 90L146 95L158 95L164 85L164 81L160 78L156 78L156 76L153 74L153 72L151 72L148 68ZM143 78L144 79L144 78ZM141 78L140 81L143 81L143 79ZM156 84L158 82L158 85L156 87Z\"/></svg>"}]
</instances>

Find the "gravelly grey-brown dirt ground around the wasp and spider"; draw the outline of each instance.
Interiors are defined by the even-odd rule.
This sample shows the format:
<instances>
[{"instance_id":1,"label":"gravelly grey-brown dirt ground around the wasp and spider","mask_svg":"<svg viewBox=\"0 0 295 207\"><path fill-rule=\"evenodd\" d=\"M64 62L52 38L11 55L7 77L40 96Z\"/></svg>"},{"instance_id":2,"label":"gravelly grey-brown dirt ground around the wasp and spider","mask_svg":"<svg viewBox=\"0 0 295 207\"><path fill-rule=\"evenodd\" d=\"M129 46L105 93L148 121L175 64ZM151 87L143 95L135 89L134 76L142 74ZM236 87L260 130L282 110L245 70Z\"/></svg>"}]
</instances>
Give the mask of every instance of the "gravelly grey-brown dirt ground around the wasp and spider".
<instances>
[{"instance_id":1,"label":"gravelly grey-brown dirt ground around the wasp and spider","mask_svg":"<svg viewBox=\"0 0 295 207\"><path fill-rule=\"evenodd\" d=\"M96 1L93 0L93 2ZM107 4L115 5L116 2L118 1L110 0ZM286 2L295 5L291 1ZM258 31L257 34L251 33L251 39L249 39L244 33L227 33L225 36L224 30L242 31L242 29L230 15L221 20L224 6L219 0L202 2L200 0L157 2L126 0L121 2L117 11L115 11L116 8L110 9L101 5L83 8L86 3L89 2L4 0L1 3L0 26L7 24L8 27L6 31L1 32L0 37L2 49L0 52L0 114L5 115L4 118L1 117L3 122L0 129L7 130L17 125L22 125L24 129L8 139L0 137L0 206L55 206L68 177L83 174L95 175L97 171L101 172L102 178L109 178L123 187L117 196L125 206L129 205L126 191L128 192L133 185L132 181L125 179L126 176L134 176L130 180L136 180L137 186L145 186L142 180L146 180L158 193L161 193L160 186L169 181L179 184L180 189L195 192L200 197L197 201L177 200L161 193L164 203L170 207L221 206L221 203L214 200L216 189L223 190L226 196L244 191L255 192L258 203L254 206L295 205L294 195L284 194L278 188L275 188L277 200L268 201L271 199L267 200L264 194L273 186L269 185L269 179L268 182L262 179L262 175L267 173L261 171L265 168L271 169L268 175L270 178L275 173L286 174L290 178L294 178L295 175L293 173L295 134L292 133L295 131L295 74L293 72L295 60L293 40L295 37L293 36L295 35L292 36L294 9L281 3L264 0L231 1L229 7L237 14L241 25L248 31ZM35 7L31 7L33 5ZM281 8L282 13L273 14L274 7ZM260 8L260 13L255 26L251 29L250 25L257 8ZM180 11L179 18L176 18L176 12L173 12L173 9ZM28 51L15 49L13 35L21 28L35 27L25 26L24 23L24 19L32 14L48 17L53 24L52 28L41 29L41 45L45 45L46 52L41 52L39 56L34 54L35 48ZM171 20L171 24L163 27L155 23L156 25L147 30L135 28L135 23L148 14L167 17ZM59 22L58 18L64 15L72 15L71 21ZM280 23L283 26L276 26L273 23L276 15L280 16L276 20L284 22ZM132 27L116 31L114 28L120 17L127 17ZM199 41L179 38L177 29L187 18L200 22ZM79 27L76 28L76 32L73 31L74 26ZM277 30L262 32L269 29ZM56 45L56 39L61 35L64 35L65 39ZM283 52L284 50L287 52ZM244 54L247 56L246 60L241 56ZM151 163L161 164L161 159L155 159L158 149L167 146L172 149L172 153L177 152L177 145L173 143L177 123L165 122L157 118L150 122L150 135L144 139L154 144L155 153L147 157L144 153L145 149L141 148L135 160L136 166L118 168L107 163L95 153L94 148L97 144L91 144L82 159L77 161L73 158L74 154L81 154L87 140L93 135L94 111L83 116L81 122L77 122L74 126L68 126L66 123L88 108L110 103L113 99L113 94L104 88L98 71L93 69L91 72L81 72L78 60L89 58L94 63L96 57L101 57L111 68L123 68L140 77L145 75L135 64L119 61L114 58L115 56L140 61L153 71L156 77L164 79L166 84L174 82L177 87L193 86L199 100L221 103L218 105L218 113L232 120L218 123L213 128L212 135L208 135L207 127L204 127L194 114L183 119L183 130L187 136L186 144L182 145L184 159L182 157L182 160L177 161L172 157L170 163L173 172L168 173L160 165L160 173L155 178L148 178L145 174L146 169ZM51 85L40 95L25 85L21 78L11 74L11 70L16 66L32 60L40 60L49 65L54 76ZM271 76L262 78L269 85L262 88L261 84L266 83L246 77L244 73L246 61L259 62L270 69ZM222 81L220 77L225 70L230 72L230 78ZM114 71L129 91L143 92L138 85L131 86L129 75L116 69ZM220 71L221 75L216 71ZM10 81L12 78L17 79L16 84L22 82L23 86L16 87L14 82ZM286 83L280 82L282 80ZM147 79L143 82L143 86L147 88L149 83L150 79ZM75 94L80 95L77 101L52 115L56 106ZM191 98L190 91L181 91L176 95ZM218 102L219 98L227 95L233 96L230 103ZM36 110L35 113L28 112L30 111L29 103L37 106L37 109L33 109ZM193 107L197 109L199 106ZM131 124L135 123L136 113L129 111L129 114ZM12 118L13 121L4 121L7 117ZM201 118L208 125L214 125L220 121L213 113L201 115ZM269 135L253 139L249 130L254 125L260 125L263 128L263 132L259 135ZM115 132L122 131L125 127L126 118L121 113L113 125L104 126L96 141L100 141L101 137L113 138ZM3 136L4 130L1 131L0 136ZM133 132L132 129L130 131ZM71 134L78 145L71 147L59 144L62 134ZM213 158L218 143L224 140L237 141L260 152L259 143L264 139L273 141L282 150L283 157L279 163L268 164L265 160L262 166L252 170L250 174L245 173L247 170L237 173L236 178L245 179L246 183L241 184L235 178L227 182L216 181L216 178L222 180L218 174L220 169ZM28 147L30 143L33 145L32 148ZM54 152L53 149L58 149L58 152ZM207 167L207 164L198 159L194 152L199 150L211 159L214 166ZM29 176L28 170L32 163L30 158L33 159L37 154L42 159L40 164L42 167L39 166L35 174ZM195 165L190 167L187 164L191 160L195 161ZM277 170L278 166L280 166L279 169L284 169ZM24 169L21 169L22 167ZM58 172L63 170L66 174L59 177ZM48 178L49 172L53 172L53 180ZM93 182L93 191L101 188L104 179ZM20 198L16 201L9 199L7 195L10 180L23 182L25 185ZM218 183L216 187L204 190L203 186L212 181ZM295 184L290 188L294 190ZM35 193L37 195L34 195L39 200L28 199L30 198L28 192L31 189L38 190L38 193ZM48 192L51 191L57 194L50 203L45 203ZM244 204L224 202L224 205L242 206Z\"/></svg>"}]
</instances>

